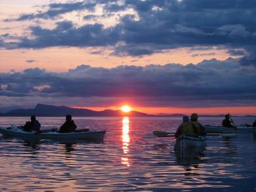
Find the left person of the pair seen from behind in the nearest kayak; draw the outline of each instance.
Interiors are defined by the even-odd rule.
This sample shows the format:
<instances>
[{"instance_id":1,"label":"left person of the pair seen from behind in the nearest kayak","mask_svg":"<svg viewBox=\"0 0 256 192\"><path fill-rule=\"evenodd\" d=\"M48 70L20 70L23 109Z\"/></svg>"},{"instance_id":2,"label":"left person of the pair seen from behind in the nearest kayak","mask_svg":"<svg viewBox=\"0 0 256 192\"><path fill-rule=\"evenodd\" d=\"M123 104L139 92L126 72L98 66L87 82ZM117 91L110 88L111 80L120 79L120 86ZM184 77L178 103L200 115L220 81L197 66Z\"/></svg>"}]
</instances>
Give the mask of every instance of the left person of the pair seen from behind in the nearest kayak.
<instances>
[{"instance_id":1,"label":"left person of the pair seen from behind in the nearest kayak","mask_svg":"<svg viewBox=\"0 0 256 192\"><path fill-rule=\"evenodd\" d=\"M178 137L180 135L200 135L196 132L195 125L193 125L193 123L189 120L189 117L187 115L183 116L183 123L178 127L175 133L175 137Z\"/></svg>"}]
</instances>

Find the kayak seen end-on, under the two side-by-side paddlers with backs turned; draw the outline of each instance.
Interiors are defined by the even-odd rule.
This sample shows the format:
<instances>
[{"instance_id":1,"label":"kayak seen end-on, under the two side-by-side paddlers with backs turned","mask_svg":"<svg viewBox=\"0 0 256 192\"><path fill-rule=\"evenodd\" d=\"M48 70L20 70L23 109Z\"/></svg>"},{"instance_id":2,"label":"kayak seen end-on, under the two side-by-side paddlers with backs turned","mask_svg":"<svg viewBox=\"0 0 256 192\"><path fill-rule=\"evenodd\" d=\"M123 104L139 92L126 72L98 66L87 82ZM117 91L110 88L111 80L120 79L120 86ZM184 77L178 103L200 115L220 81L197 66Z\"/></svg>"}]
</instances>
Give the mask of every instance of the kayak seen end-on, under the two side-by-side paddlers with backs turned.
<instances>
[{"instance_id":1,"label":"kayak seen end-on, under the two side-by-side paddlers with backs turned","mask_svg":"<svg viewBox=\"0 0 256 192\"><path fill-rule=\"evenodd\" d=\"M205 149L207 138L204 136L188 136L181 135L176 138L176 143L174 146L174 150L179 149Z\"/></svg>"}]
</instances>

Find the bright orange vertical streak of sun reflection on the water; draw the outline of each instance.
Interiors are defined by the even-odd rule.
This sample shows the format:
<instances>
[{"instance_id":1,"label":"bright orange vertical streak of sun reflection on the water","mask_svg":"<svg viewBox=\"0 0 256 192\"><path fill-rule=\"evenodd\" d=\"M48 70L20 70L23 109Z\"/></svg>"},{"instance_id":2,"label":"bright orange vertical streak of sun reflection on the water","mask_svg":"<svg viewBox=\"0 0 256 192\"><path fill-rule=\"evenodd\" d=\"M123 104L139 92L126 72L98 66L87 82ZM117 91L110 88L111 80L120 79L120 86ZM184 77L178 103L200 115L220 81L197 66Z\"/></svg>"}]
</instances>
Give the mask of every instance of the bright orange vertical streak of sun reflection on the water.
<instances>
[{"instance_id":1,"label":"bright orange vertical streak of sun reflection on the water","mask_svg":"<svg viewBox=\"0 0 256 192\"><path fill-rule=\"evenodd\" d=\"M122 150L123 154L127 155L129 152L129 117L123 117L122 119ZM127 167L130 167L129 159L127 156L123 156L122 158L122 164L126 165Z\"/></svg>"}]
</instances>

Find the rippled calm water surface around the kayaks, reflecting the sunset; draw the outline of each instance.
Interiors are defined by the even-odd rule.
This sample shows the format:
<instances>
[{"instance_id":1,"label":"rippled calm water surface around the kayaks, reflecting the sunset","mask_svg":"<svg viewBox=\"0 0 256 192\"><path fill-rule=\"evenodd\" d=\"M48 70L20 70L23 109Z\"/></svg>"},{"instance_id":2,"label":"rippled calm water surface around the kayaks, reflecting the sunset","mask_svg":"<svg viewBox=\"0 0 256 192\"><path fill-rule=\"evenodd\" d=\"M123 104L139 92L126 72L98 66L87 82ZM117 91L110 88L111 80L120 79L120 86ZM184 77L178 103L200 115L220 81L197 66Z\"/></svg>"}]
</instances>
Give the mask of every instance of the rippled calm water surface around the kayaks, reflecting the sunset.
<instances>
[{"instance_id":1,"label":"rippled calm water surface around the kayaks, reflecting the sunset","mask_svg":"<svg viewBox=\"0 0 256 192\"><path fill-rule=\"evenodd\" d=\"M64 118L37 118L42 129ZM103 143L26 141L0 136L1 192L233 192L256 191L256 131L225 139L208 136L204 153L181 157L174 138L145 138L174 132L181 118L73 118L78 129L104 129ZM254 118L233 118L236 124ZM29 118L0 118L0 126ZM200 118L219 124L222 118Z\"/></svg>"}]
</instances>

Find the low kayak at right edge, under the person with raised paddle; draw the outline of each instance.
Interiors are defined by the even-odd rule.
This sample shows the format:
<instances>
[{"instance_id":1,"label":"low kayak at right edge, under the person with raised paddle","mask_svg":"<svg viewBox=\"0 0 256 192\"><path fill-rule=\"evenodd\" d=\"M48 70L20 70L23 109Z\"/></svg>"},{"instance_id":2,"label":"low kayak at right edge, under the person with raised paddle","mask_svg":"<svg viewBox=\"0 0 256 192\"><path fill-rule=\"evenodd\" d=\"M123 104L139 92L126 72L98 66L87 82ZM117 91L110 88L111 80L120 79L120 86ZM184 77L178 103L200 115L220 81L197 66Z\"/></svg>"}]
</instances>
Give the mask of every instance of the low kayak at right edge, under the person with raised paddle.
<instances>
[{"instance_id":1,"label":"low kayak at right edge, under the person with raised paddle","mask_svg":"<svg viewBox=\"0 0 256 192\"><path fill-rule=\"evenodd\" d=\"M246 126L237 126L237 129L234 128L228 128L228 127L221 127L221 126L210 126L210 125L204 125L206 133L216 133L216 132L233 132L233 131L250 131L250 130L256 130L254 127L246 127Z\"/></svg>"}]
</instances>

